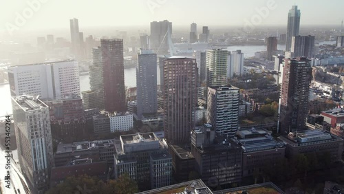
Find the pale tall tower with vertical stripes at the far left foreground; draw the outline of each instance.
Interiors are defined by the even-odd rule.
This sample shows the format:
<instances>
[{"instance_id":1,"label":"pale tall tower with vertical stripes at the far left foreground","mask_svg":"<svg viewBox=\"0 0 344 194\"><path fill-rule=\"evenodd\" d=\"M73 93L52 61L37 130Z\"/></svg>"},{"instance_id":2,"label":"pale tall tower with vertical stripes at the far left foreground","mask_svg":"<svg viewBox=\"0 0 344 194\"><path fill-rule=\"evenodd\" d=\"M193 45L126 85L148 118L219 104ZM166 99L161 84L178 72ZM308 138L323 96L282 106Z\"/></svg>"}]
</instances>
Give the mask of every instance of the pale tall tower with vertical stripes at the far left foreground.
<instances>
[{"instance_id":1,"label":"pale tall tower with vertical stripes at the far left foreground","mask_svg":"<svg viewBox=\"0 0 344 194\"><path fill-rule=\"evenodd\" d=\"M43 193L49 185L54 154L49 107L37 98L14 96L12 107L21 171L35 189L33 193Z\"/></svg>"}]
</instances>

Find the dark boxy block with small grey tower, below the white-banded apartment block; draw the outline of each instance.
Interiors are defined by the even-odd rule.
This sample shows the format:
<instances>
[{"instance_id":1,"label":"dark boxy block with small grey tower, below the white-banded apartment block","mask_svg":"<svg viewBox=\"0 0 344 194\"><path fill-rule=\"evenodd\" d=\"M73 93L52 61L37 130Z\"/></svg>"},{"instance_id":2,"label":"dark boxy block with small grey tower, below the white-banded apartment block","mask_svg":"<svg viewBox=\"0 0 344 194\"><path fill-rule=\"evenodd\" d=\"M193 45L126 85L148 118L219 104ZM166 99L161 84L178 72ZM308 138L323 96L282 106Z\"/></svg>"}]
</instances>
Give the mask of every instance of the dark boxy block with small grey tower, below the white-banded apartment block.
<instances>
[{"instance_id":1,"label":"dark boxy block with small grey tower, below the white-banded apartment block","mask_svg":"<svg viewBox=\"0 0 344 194\"><path fill-rule=\"evenodd\" d=\"M210 124L191 131L191 142L195 169L208 186L241 182L241 147L225 138L215 138L215 129Z\"/></svg>"}]
</instances>

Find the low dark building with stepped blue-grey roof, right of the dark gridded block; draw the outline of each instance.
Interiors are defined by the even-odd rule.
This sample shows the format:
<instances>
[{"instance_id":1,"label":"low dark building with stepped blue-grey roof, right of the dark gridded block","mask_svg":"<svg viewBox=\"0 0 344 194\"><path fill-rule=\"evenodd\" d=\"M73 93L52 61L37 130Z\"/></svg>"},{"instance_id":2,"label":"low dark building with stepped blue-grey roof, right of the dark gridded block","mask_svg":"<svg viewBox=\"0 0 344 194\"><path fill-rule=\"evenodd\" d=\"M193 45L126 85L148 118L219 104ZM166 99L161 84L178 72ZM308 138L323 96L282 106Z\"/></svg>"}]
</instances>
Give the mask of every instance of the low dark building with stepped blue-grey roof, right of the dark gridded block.
<instances>
[{"instance_id":1,"label":"low dark building with stepped blue-grey roof, right of the dark gridded block","mask_svg":"<svg viewBox=\"0 0 344 194\"><path fill-rule=\"evenodd\" d=\"M252 176L255 170L261 170L268 165L274 165L283 159L286 146L277 142L264 129L240 129L237 138L232 139L243 149L242 175Z\"/></svg>"}]
</instances>

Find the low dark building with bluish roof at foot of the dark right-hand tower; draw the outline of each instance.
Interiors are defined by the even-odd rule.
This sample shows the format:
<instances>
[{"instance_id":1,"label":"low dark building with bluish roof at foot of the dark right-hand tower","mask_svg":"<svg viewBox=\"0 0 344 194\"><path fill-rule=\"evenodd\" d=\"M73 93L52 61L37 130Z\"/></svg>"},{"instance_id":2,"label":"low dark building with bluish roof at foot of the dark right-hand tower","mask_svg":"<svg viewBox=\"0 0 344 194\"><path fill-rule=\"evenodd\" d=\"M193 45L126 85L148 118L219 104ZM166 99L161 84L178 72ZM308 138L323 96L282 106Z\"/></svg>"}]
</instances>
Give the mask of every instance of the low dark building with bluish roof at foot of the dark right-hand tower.
<instances>
[{"instance_id":1,"label":"low dark building with bluish roof at foot of the dark right-hand tower","mask_svg":"<svg viewBox=\"0 0 344 194\"><path fill-rule=\"evenodd\" d=\"M279 139L286 142L287 158L294 158L300 153L329 153L332 162L335 162L341 160L343 153L344 140L319 129L290 132L286 136L279 136Z\"/></svg>"}]
</instances>

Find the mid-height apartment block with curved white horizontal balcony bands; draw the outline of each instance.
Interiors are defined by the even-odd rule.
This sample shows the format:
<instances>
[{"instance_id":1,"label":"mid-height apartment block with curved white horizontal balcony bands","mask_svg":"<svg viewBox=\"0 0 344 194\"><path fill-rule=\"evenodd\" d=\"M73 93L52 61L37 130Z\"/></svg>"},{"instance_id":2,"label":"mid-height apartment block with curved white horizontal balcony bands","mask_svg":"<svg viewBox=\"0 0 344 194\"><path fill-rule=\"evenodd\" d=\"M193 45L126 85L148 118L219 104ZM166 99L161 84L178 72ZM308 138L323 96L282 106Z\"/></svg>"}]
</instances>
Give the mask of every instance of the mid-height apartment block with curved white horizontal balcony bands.
<instances>
[{"instance_id":1,"label":"mid-height apartment block with curved white horizontal balcony bands","mask_svg":"<svg viewBox=\"0 0 344 194\"><path fill-rule=\"evenodd\" d=\"M208 87L208 122L217 133L234 137L239 126L239 88Z\"/></svg>"}]
</instances>

